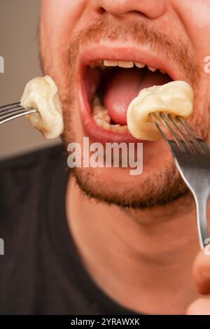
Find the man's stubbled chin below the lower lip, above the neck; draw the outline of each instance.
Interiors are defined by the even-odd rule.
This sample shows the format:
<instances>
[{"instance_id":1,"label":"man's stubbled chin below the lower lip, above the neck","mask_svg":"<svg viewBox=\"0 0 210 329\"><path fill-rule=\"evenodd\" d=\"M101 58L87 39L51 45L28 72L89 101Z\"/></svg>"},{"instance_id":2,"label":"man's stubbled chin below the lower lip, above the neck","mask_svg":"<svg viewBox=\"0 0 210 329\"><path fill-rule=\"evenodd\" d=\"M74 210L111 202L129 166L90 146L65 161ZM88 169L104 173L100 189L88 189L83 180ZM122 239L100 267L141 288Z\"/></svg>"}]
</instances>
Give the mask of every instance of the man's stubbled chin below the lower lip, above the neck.
<instances>
[{"instance_id":1,"label":"man's stubbled chin below the lower lip, above the neck","mask_svg":"<svg viewBox=\"0 0 210 329\"><path fill-rule=\"evenodd\" d=\"M66 140L69 139L65 137L64 140L68 144ZM151 153L155 153L155 150L151 150ZM74 167L70 173L87 197L123 208L157 207L188 192L176 171L172 156L165 148L162 153L159 149L158 158L144 156L143 172L137 176L130 175L130 168L122 167Z\"/></svg>"}]
</instances>

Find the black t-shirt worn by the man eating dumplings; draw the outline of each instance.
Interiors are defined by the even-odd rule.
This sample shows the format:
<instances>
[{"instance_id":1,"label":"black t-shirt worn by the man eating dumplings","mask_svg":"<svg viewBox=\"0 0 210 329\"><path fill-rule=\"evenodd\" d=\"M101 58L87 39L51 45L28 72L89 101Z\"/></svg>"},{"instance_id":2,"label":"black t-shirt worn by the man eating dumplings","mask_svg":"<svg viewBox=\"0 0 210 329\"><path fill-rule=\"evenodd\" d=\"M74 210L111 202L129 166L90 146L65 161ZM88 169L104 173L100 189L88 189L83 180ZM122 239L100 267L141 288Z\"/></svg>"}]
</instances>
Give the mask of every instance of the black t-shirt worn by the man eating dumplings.
<instances>
[{"instance_id":1,"label":"black t-shirt worn by the man eating dumplings","mask_svg":"<svg viewBox=\"0 0 210 329\"><path fill-rule=\"evenodd\" d=\"M66 221L62 146L3 160L0 170L0 314L135 314L80 262Z\"/></svg>"}]
</instances>

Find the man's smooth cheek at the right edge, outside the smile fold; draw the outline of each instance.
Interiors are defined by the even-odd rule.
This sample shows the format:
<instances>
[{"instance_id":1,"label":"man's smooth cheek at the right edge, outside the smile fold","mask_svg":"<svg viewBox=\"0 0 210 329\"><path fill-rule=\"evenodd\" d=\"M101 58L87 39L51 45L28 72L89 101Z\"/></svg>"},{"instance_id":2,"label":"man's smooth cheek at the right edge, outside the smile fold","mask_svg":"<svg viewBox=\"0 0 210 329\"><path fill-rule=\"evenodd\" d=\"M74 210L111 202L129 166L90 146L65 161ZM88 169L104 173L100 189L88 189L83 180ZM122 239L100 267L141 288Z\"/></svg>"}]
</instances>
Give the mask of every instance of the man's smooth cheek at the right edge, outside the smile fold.
<instances>
[{"instance_id":1,"label":"man's smooth cheek at the right edge, outside the smile fold","mask_svg":"<svg viewBox=\"0 0 210 329\"><path fill-rule=\"evenodd\" d=\"M198 116L197 120L205 118L205 123L208 125L210 123L210 73L205 72L207 62L205 62L204 59L210 55L209 4L209 0L174 1L176 11L179 13L181 22L187 31L188 38L190 38L197 62L200 65L200 83L197 86L197 90L195 90L195 117ZM200 126L204 126L204 123L200 123Z\"/></svg>"}]
</instances>

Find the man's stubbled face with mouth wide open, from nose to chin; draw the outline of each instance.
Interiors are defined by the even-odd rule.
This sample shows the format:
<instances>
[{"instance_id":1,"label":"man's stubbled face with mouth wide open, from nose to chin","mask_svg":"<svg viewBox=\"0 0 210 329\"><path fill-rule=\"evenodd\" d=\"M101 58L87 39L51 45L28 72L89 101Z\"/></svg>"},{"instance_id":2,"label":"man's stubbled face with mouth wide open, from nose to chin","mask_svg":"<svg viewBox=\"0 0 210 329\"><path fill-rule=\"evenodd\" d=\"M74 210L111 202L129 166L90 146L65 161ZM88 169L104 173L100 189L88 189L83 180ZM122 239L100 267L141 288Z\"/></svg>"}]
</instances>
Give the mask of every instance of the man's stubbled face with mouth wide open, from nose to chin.
<instances>
[{"instance_id":1,"label":"man's stubbled face with mouth wide open, from nose to chin","mask_svg":"<svg viewBox=\"0 0 210 329\"><path fill-rule=\"evenodd\" d=\"M210 73L204 72L204 57L210 55L209 16L209 0L43 0L41 59L59 88L65 145L76 141L83 146L83 137L90 143L133 141L121 127L127 104L144 87L170 80L192 85L190 123L208 140ZM104 69L104 60L146 66ZM113 125L104 123L106 109ZM93 112L101 118L97 123ZM87 195L121 206L149 207L186 193L161 139L144 142L140 176L131 176L130 168L73 172Z\"/></svg>"}]
</instances>

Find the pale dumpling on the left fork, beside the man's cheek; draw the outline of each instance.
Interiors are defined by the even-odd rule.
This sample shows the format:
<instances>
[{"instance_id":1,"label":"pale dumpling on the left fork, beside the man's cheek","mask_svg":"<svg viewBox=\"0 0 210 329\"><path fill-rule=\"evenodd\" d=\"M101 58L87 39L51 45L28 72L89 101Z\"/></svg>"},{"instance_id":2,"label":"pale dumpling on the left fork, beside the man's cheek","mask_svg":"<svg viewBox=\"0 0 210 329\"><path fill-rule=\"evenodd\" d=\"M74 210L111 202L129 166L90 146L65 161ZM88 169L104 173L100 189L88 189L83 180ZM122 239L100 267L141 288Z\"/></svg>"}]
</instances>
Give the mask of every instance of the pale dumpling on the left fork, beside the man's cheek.
<instances>
[{"instance_id":1,"label":"pale dumpling on the left fork, beside the man's cheek","mask_svg":"<svg viewBox=\"0 0 210 329\"><path fill-rule=\"evenodd\" d=\"M22 94L20 104L25 109L37 109L36 113L26 117L46 139L55 139L62 134L64 129L62 105L59 101L57 86L50 76L30 80Z\"/></svg>"}]
</instances>

